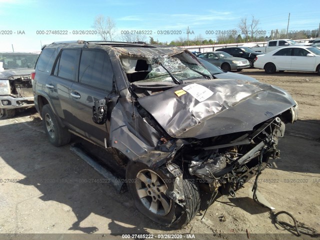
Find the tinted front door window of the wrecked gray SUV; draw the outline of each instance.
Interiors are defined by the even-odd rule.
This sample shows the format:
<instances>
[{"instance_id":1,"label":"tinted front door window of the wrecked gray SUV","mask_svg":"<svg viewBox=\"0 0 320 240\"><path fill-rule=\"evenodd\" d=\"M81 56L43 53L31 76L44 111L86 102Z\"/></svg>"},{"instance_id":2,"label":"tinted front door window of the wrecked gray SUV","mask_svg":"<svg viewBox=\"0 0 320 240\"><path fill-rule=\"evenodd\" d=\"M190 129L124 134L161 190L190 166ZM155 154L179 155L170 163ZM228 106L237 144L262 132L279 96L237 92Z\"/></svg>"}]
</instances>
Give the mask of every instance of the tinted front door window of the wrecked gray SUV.
<instances>
[{"instance_id":1,"label":"tinted front door window of the wrecked gray SUV","mask_svg":"<svg viewBox=\"0 0 320 240\"><path fill-rule=\"evenodd\" d=\"M82 50L79 66L79 82L112 90L113 70L105 52Z\"/></svg>"}]
</instances>

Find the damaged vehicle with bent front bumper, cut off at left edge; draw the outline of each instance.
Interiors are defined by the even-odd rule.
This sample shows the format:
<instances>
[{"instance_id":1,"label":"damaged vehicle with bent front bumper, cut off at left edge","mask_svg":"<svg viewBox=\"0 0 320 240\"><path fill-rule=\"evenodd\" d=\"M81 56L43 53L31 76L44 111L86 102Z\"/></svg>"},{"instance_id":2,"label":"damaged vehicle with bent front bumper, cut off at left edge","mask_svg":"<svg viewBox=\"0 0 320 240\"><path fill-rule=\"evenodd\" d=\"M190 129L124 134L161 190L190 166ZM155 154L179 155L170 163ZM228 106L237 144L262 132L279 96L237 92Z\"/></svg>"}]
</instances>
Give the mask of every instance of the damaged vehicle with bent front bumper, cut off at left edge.
<instances>
[{"instance_id":1,"label":"damaged vehicle with bent front bumper, cut off at left edge","mask_svg":"<svg viewBox=\"0 0 320 240\"><path fill-rule=\"evenodd\" d=\"M0 52L0 118L12 117L15 109L33 106L30 73L38 53Z\"/></svg>"}]
</instances>

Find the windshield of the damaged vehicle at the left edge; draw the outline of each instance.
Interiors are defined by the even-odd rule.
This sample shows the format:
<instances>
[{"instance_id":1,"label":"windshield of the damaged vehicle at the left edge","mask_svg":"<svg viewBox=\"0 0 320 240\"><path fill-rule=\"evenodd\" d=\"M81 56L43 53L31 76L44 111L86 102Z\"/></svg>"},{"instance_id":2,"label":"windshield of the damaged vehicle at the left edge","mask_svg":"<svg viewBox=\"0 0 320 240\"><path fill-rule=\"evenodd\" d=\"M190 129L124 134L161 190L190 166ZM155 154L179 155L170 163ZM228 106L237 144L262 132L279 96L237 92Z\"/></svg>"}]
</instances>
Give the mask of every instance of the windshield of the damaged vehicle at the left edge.
<instances>
[{"instance_id":1,"label":"windshield of the damaged vehicle at the left edge","mask_svg":"<svg viewBox=\"0 0 320 240\"><path fill-rule=\"evenodd\" d=\"M0 52L0 61L4 69L34 68L38 54Z\"/></svg>"}]
</instances>

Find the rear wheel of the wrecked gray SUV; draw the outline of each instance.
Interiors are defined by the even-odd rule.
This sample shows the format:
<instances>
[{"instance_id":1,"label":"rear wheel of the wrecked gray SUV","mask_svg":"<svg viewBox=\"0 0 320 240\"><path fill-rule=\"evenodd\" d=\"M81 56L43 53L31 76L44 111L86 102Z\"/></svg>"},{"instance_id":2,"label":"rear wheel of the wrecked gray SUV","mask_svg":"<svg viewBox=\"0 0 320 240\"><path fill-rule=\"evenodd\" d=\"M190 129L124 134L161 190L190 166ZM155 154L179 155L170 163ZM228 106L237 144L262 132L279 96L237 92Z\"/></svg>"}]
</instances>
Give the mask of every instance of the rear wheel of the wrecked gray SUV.
<instances>
[{"instance_id":1,"label":"rear wheel of the wrecked gray SUV","mask_svg":"<svg viewBox=\"0 0 320 240\"><path fill-rule=\"evenodd\" d=\"M62 146L70 141L70 132L58 122L51 107L46 104L42 108L44 131L54 146Z\"/></svg>"}]
</instances>

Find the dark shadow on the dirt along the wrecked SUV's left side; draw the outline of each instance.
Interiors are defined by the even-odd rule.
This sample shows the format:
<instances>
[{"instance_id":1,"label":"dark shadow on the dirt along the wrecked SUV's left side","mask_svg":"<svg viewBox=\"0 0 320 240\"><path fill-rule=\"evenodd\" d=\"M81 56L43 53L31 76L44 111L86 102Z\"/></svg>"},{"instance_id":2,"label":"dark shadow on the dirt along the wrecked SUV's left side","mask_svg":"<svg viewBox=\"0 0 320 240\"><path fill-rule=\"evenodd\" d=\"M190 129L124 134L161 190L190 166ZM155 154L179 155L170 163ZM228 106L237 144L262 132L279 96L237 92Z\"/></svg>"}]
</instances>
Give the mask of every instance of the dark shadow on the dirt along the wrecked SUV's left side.
<instances>
[{"instance_id":1,"label":"dark shadow on the dirt along the wrecked SUV's left side","mask_svg":"<svg viewBox=\"0 0 320 240\"><path fill-rule=\"evenodd\" d=\"M66 223L67 227L64 232L68 232L68 230L85 233L98 231L98 228L101 228L101 223L100 227L97 227L94 222L92 225L86 221L83 222L92 213L105 219L103 229L112 234L146 233L145 228L163 231L174 230L160 226L142 215L135 208L128 192L116 193L107 179L104 179L85 161L71 153L69 145L59 148L51 145L45 134L39 131L42 130L42 124L35 124L41 123L39 118L26 122L30 126L34 125L34 128L38 128L38 130L26 127L25 122L23 123L0 126L1 138L10 139L9 141L1 141L0 157L15 171L25 176L14 184L34 186L42 194L38 198L45 202L48 201L47 204L50 205L49 201L56 201L71 208L77 220L69 222L69 225ZM12 134L12 132L23 134ZM12 146L12 142L14 142L14 146ZM12 176L5 174L1 178L4 177L12 178ZM19 195L17 198L19 201L24 201L29 196ZM30 206L34 208L33 212L31 209L28 211L28 216L34 222L41 221L41 219L32 218L34 212L49 210L33 206L32 202ZM52 212L48 212L48 214L52 214ZM63 214L69 213L60 210L54 220L57 223L60 222L60 217ZM69 216L65 219L72 218Z\"/></svg>"}]
</instances>

